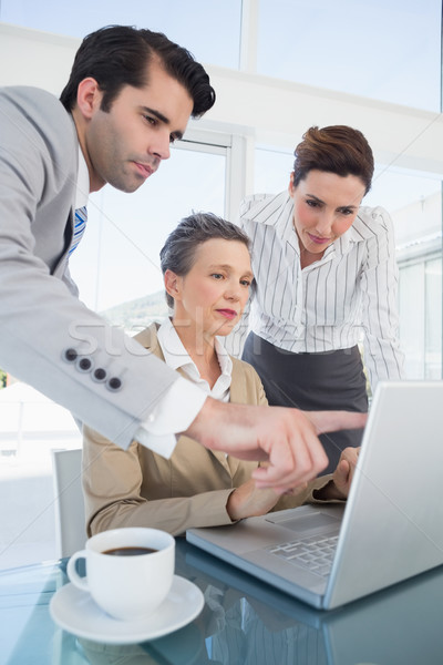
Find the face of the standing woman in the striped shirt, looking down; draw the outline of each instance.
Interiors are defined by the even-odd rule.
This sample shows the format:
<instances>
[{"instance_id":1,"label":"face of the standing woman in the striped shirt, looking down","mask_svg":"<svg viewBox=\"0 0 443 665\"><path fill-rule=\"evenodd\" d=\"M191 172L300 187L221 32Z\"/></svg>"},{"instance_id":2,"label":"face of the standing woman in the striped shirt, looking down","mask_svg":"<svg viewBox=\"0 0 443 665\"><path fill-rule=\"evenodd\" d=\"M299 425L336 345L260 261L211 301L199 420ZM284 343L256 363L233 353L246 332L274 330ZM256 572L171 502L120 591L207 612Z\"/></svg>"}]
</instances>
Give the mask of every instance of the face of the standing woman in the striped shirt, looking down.
<instances>
[{"instance_id":1,"label":"face of the standing woman in the striped shirt, looking down","mask_svg":"<svg viewBox=\"0 0 443 665\"><path fill-rule=\"evenodd\" d=\"M321 258L326 248L352 226L364 191L363 181L356 175L342 177L315 170L296 187L291 175L289 194L300 252Z\"/></svg>"}]
</instances>

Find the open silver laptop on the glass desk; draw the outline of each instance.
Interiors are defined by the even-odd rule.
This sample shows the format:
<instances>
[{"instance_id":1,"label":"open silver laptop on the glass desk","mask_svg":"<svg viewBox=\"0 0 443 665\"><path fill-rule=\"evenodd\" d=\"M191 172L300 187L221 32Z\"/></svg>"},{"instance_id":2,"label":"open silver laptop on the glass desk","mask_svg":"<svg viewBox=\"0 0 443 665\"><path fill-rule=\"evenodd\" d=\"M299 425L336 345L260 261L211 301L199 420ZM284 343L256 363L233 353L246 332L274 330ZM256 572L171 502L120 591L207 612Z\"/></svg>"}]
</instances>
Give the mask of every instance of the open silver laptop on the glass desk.
<instances>
[{"instance_id":1,"label":"open silver laptop on the glass desk","mask_svg":"<svg viewBox=\"0 0 443 665\"><path fill-rule=\"evenodd\" d=\"M443 381L381 382L346 505L189 529L186 539L331 610L443 564L442 478Z\"/></svg>"}]
</instances>

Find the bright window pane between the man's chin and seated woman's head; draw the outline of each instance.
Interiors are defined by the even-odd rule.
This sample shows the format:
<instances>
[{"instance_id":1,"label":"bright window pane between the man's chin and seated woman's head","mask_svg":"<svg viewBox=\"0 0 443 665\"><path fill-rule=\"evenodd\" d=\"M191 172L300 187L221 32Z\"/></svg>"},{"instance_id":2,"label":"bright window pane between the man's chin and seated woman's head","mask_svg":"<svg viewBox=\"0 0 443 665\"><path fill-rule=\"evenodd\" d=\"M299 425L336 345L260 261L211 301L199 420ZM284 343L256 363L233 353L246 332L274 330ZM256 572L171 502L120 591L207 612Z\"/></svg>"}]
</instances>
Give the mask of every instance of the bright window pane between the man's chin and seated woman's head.
<instances>
[{"instance_id":1,"label":"bright window pane between the man's chin and seated woman's head","mask_svg":"<svg viewBox=\"0 0 443 665\"><path fill-rule=\"evenodd\" d=\"M137 192L106 185L90 197L71 274L92 309L163 294L159 250L167 234L193 209L224 215L227 146L181 143Z\"/></svg>"}]
</instances>

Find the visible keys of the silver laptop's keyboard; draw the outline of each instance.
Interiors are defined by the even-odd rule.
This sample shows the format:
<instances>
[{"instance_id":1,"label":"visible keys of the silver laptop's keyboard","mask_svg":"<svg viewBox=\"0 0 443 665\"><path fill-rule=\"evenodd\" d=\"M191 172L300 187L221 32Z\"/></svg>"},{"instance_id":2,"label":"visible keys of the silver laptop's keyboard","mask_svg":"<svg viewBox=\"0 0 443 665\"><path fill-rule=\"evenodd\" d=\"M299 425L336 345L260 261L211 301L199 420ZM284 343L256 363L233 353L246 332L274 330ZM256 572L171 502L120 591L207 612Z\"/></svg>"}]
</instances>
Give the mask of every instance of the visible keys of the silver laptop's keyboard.
<instances>
[{"instance_id":1,"label":"visible keys of the silver laptop's keyboard","mask_svg":"<svg viewBox=\"0 0 443 665\"><path fill-rule=\"evenodd\" d=\"M266 551L288 563L301 565L312 573L326 577L331 572L338 540L338 535L311 535L301 540L271 545L266 548Z\"/></svg>"}]
</instances>

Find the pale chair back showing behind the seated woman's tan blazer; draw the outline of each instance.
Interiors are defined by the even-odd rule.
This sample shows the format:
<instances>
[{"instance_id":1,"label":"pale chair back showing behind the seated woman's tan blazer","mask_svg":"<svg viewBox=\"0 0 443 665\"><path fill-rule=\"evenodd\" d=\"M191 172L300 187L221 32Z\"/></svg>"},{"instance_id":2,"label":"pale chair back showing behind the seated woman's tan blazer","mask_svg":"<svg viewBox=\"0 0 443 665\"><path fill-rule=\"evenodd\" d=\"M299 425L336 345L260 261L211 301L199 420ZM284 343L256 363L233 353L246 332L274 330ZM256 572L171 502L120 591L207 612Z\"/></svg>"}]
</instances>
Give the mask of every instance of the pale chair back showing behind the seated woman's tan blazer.
<instances>
[{"instance_id":1,"label":"pale chair back showing behind the seated woman's tan blazer","mask_svg":"<svg viewBox=\"0 0 443 665\"><path fill-rule=\"evenodd\" d=\"M82 492L82 449L52 450L56 556L71 556L87 540Z\"/></svg>"}]
</instances>

